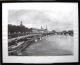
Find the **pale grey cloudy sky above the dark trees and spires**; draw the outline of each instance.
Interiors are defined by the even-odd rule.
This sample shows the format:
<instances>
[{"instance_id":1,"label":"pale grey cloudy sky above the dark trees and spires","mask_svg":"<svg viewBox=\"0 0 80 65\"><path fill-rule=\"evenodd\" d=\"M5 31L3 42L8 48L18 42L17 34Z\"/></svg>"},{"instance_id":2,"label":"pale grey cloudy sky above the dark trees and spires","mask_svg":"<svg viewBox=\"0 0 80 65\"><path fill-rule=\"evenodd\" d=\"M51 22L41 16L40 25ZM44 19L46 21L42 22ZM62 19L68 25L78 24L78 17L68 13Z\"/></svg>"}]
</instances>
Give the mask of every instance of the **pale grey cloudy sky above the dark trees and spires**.
<instances>
[{"instance_id":1,"label":"pale grey cloudy sky above the dark trees and spires","mask_svg":"<svg viewBox=\"0 0 80 65\"><path fill-rule=\"evenodd\" d=\"M11 10L9 11L9 23L11 24L20 24L20 21L23 21L23 24L26 27L40 28L43 26L46 28L46 25L49 30L67 30L72 29L73 17L71 13L59 13L52 11L38 11L38 10Z\"/></svg>"}]
</instances>

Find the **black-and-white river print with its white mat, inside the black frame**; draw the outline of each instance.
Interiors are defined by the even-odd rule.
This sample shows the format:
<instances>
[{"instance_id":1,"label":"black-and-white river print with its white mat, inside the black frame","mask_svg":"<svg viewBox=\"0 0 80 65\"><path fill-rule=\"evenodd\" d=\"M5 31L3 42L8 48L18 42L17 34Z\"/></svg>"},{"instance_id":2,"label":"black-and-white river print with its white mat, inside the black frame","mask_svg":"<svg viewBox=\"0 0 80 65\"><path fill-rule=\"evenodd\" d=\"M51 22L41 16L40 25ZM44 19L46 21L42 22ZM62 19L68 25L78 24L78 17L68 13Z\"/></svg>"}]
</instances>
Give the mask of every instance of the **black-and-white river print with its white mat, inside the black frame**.
<instances>
[{"instance_id":1,"label":"black-and-white river print with its white mat, inside the black frame","mask_svg":"<svg viewBox=\"0 0 80 65\"><path fill-rule=\"evenodd\" d=\"M4 62L78 61L78 3L3 3L3 22Z\"/></svg>"}]
</instances>

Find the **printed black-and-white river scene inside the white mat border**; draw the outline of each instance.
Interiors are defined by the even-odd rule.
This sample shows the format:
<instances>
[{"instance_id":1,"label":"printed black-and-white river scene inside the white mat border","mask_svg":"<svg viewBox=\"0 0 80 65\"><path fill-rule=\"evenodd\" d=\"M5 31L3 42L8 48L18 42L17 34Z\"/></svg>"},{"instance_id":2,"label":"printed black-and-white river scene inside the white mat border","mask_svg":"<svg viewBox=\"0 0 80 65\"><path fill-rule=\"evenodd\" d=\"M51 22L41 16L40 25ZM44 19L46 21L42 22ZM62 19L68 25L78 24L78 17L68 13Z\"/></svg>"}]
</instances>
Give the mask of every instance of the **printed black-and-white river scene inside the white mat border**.
<instances>
[{"instance_id":1,"label":"printed black-and-white river scene inside the white mat border","mask_svg":"<svg viewBox=\"0 0 80 65\"><path fill-rule=\"evenodd\" d=\"M73 55L73 21L69 17L68 22L66 14L61 16L52 11L37 10L9 11L8 54Z\"/></svg>"}]
</instances>

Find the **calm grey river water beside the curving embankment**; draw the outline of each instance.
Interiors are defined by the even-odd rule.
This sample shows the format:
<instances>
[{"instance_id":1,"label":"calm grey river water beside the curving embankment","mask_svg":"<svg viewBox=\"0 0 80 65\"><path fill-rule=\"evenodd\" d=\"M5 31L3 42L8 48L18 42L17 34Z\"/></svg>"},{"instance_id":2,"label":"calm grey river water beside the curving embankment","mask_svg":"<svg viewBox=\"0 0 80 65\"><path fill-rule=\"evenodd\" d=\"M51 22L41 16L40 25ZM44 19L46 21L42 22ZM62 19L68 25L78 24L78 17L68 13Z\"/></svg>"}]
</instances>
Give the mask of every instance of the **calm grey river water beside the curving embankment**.
<instances>
[{"instance_id":1,"label":"calm grey river water beside the curving embankment","mask_svg":"<svg viewBox=\"0 0 80 65\"><path fill-rule=\"evenodd\" d=\"M72 55L74 39L71 36L46 36L22 51L22 56Z\"/></svg>"}]
</instances>

